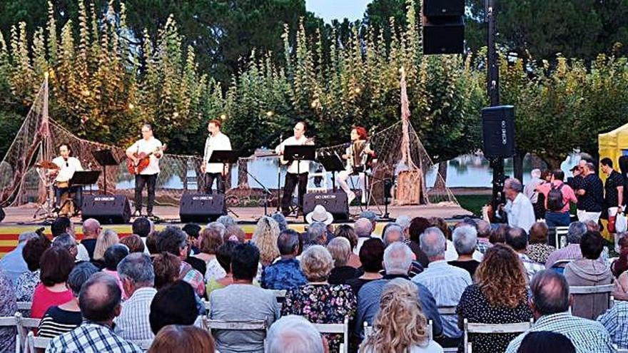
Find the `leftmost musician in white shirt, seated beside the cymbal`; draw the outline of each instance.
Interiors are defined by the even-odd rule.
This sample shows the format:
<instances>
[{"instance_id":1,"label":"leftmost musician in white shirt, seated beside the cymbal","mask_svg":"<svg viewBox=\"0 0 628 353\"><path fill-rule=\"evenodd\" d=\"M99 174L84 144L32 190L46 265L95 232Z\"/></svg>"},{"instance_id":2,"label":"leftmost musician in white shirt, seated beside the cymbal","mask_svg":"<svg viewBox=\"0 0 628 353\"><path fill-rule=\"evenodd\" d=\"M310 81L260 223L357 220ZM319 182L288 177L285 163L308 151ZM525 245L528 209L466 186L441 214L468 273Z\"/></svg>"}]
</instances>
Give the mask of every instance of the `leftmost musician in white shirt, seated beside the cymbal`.
<instances>
[{"instance_id":1,"label":"leftmost musician in white shirt, seated beside the cymbal","mask_svg":"<svg viewBox=\"0 0 628 353\"><path fill-rule=\"evenodd\" d=\"M74 176L74 172L77 170L83 170L81 161L76 157L72 157L72 149L67 143L61 143L59 145L59 157L52 160L52 163L56 164L59 169L51 170L51 175L54 175L54 205L57 208L61 207L61 195L64 193L71 193L74 198L74 202L78 207L81 207L83 202L83 187L81 185L70 186L70 179Z\"/></svg>"}]
</instances>

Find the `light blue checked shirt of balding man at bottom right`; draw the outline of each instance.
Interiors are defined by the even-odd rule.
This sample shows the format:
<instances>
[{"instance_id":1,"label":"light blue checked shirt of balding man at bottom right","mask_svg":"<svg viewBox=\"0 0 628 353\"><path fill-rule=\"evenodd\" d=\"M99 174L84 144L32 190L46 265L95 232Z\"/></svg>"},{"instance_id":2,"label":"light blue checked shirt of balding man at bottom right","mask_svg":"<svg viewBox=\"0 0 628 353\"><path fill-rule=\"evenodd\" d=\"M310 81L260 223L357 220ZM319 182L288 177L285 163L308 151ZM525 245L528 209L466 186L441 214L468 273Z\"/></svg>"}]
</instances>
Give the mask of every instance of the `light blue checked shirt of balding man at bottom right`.
<instances>
[{"instance_id":1,"label":"light blue checked shirt of balding man at bottom right","mask_svg":"<svg viewBox=\"0 0 628 353\"><path fill-rule=\"evenodd\" d=\"M611 337L599 322L574 317L567 312L540 317L531 329L513 339L506 353L516 353L528 332L550 331L564 334L576 347L576 353L614 352Z\"/></svg>"}]
</instances>

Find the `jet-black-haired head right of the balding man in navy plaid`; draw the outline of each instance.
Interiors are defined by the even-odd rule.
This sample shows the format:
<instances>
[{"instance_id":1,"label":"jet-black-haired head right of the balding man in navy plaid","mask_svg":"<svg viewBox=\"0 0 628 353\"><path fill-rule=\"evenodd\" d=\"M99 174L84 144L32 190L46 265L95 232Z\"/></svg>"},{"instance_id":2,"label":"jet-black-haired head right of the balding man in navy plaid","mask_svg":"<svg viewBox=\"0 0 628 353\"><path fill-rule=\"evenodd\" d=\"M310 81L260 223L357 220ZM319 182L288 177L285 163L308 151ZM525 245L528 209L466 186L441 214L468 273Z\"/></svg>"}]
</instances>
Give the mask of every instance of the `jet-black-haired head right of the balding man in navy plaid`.
<instances>
[{"instance_id":1,"label":"jet-black-haired head right of the balding man in navy plaid","mask_svg":"<svg viewBox=\"0 0 628 353\"><path fill-rule=\"evenodd\" d=\"M151 301L148 322L153 334L169 324L193 325L198 319L194 290L188 282L178 280L163 287Z\"/></svg>"}]
</instances>

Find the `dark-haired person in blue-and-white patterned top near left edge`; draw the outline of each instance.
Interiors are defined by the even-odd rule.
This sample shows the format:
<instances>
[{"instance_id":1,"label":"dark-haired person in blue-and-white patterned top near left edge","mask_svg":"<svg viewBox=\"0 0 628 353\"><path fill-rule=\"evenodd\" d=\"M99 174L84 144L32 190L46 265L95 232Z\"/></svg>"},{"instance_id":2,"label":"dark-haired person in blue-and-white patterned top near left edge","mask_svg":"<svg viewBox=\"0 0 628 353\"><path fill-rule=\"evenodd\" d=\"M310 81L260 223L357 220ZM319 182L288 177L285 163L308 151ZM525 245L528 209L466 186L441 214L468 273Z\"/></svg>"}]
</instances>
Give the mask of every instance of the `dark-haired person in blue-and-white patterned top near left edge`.
<instances>
[{"instance_id":1,"label":"dark-haired person in blue-and-white patterned top near left edge","mask_svg":"<svg viewBox=\"0 0 628 353\"><path fill-rule=\"evenodd\" d=\"M15 296L18 302L31 302L35 287L39 285L41 270L39 262L44 251L50 248L50 240L44 235L28 240L22 249L22 257L26 261L28 271L22 273L15 281Z\"/></svg>"}]
</instances>

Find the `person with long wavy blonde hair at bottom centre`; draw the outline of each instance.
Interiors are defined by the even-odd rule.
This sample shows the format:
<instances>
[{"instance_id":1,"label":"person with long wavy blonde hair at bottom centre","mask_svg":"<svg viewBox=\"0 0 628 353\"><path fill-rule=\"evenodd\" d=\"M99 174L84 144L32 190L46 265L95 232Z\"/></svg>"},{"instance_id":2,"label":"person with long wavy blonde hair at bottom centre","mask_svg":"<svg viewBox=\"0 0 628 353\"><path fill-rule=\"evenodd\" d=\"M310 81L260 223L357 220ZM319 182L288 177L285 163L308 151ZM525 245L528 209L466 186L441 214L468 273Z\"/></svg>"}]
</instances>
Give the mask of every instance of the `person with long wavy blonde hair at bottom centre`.
<instances>
[{"instance_id":1,"label":"person with long wavy blonde hair at bottom centre","mask_svg":"<svg viewBox=\"0 0 628 353\"><path fill-rule=\"evenodd\" d=\"M440 344L430 339L428 328L415 285L396 278L383 288L373 333L365 338L360 352L442 352Z\"/></svg>"}]
</instances>

